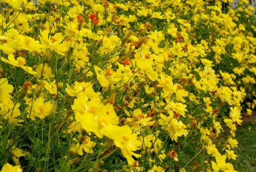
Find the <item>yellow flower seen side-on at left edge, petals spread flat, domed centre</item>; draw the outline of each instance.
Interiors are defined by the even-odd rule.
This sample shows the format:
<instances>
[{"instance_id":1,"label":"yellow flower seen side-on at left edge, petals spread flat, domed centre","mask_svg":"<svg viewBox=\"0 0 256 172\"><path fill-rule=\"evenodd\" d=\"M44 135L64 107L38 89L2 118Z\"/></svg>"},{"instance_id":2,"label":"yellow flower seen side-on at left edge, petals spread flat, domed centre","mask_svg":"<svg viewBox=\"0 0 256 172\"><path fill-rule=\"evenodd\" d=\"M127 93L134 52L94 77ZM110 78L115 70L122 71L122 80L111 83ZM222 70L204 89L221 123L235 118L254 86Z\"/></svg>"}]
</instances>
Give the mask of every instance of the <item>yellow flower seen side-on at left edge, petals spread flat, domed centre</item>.
<instances>
[{"instance_id":1,"label":"yellow flower seen side-on at left edge, petals spread flat, domed centre","mask_svg":"<svg viewBox=\"0 0 256 172\"><path fill-rule=\"evenodd\" d=\"M26 71L26 72L28 72L28 73L30 73L30 74L32 74L32 75L35 75L35 74L36 74L36 72L33 71L33 69L32 69L31 67L25 66L25 64L26 64L25 58L23 58L23 57L17 57L17 60L15 60L13 54L9 54L8 59L9 59L9 60L7 60L7 59L1 57L1 60L2 60L3 62L6 62L7 64L13 65L14 67L21 68L21 69L23 69L24 71Z\"/></svg>"}]
</instances>

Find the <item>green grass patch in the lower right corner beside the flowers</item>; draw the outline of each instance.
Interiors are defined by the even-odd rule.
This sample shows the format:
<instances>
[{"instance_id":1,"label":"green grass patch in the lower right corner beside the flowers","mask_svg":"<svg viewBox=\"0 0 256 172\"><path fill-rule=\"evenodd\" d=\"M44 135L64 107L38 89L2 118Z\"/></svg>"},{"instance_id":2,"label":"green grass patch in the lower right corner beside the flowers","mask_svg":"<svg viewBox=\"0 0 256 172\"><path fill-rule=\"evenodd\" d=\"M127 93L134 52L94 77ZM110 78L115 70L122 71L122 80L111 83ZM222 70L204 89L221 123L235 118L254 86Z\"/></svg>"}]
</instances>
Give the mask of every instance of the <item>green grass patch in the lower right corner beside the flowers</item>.
<instances>
[{"instance_id":1,"label":"green grass patch in the lower right corner beside the flowers","mask_svg":"<svg viewBox=\"0 0 256 172\"><path fill-rule=\"evenodd\" d=\"M236 131L238 158L230 161L236 171L256 171L256 114L243 119L242 126Z\"/></svg>"}]
</instances>

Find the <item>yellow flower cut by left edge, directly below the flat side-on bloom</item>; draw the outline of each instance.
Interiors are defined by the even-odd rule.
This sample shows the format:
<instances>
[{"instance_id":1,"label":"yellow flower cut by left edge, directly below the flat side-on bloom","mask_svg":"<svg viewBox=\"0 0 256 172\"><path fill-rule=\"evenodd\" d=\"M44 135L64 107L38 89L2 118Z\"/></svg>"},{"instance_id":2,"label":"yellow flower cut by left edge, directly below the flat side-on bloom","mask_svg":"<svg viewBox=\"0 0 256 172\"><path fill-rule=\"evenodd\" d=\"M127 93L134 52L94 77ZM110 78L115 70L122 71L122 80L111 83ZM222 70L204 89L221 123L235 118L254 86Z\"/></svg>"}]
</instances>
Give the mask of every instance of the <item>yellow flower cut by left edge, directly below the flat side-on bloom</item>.
<instances>
[{"instance_id":1,"label":"yellow flower cut by left edge, directly below the flat side-on bloom","mask_svg":"<svg viewBox=\"0 0 256 172\"><path fill-rule=\"evenodd\" d=\"M6 78L0 79L0 101L7 104L7 101L10 100L9 93L13 92L13 85L8 84Z\"/></svg>"}]
</instances>

